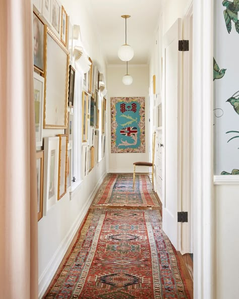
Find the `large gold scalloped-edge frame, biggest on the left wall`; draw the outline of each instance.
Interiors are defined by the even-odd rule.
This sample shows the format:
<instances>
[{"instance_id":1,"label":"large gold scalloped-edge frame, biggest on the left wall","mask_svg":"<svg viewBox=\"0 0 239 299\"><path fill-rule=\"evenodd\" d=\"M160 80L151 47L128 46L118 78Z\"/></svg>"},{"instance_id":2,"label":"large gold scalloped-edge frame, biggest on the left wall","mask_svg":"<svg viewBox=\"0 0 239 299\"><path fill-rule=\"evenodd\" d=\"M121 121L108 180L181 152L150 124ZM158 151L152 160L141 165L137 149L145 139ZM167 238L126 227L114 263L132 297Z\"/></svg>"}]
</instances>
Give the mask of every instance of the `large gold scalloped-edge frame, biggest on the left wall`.
<instances>
[{"instance_id":1,"label":"large gold scalloped-edge frame, biggest on the left wall","mask_svg":"<svg viewBox=\"0 0 239 299\"><path fill-rule=\"evenodd\" d=\"M47 27L44 129L67 129L69 51Z\"/></svg>"}]
</instances>

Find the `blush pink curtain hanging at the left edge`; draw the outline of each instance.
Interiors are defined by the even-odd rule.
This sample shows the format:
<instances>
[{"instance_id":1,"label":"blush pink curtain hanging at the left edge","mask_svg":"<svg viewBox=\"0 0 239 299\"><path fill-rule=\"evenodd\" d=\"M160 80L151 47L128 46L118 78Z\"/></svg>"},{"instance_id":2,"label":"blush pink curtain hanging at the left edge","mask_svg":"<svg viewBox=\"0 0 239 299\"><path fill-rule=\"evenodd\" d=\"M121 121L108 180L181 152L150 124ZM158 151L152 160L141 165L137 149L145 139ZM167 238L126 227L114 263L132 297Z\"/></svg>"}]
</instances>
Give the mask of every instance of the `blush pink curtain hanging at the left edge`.
<instances>
[{"instance_id":1,"label":"blush pink curtain hanging at the left edge","mask_svg":"<svg viewBox=\"0 0 239 299\"><path fill-rule=\"evenodd\" d=\"M38 298L32 3L0 9L0 298Z\"/></svg>"}]
</instances>

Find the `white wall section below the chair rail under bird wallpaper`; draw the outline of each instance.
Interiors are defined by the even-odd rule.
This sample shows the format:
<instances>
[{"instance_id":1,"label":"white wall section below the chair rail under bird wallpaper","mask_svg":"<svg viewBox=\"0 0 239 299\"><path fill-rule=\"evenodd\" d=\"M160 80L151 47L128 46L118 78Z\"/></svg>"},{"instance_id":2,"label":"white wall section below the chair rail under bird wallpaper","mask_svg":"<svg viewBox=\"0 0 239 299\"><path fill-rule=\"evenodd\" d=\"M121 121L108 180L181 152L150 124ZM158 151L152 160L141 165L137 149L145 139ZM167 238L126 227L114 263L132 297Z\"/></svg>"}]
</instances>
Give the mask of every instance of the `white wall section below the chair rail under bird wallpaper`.
<instances>
[{"instance_id":1,"label":"white wall section below the chair rail under bird wallpaper","mask_svg":"<svg viewBox=\"0 0 239 299\"><path fill-rule=\"evenodd\" d=\"M214 299L238 297L239 185L214 186Z\"/></svg>"}]
</instances>

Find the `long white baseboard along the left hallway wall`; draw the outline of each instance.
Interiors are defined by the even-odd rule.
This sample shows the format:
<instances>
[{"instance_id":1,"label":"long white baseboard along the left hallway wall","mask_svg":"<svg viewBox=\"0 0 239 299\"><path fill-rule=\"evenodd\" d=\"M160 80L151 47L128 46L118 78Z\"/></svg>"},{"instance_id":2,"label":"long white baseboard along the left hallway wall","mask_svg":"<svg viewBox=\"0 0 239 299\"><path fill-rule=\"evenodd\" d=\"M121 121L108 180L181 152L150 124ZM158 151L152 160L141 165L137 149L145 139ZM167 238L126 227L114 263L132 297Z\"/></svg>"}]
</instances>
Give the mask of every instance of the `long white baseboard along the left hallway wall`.
<instances>
[{"instance_id":1,"label":"long white baseboard along the left hallway wall","mask_svg":"<svg viewBox=\"0 0 239 299\"><path fill-rule=\"evenodd\" d=\"M79 229L82 221L84 220L84 217L85 217L87 211L89 210L89 207L96 195L97 190L99 189L99 186L102 184L106 175L107 175L107 173L105 172L101 176L100 180L98 181L97 185L95 186L94 190L91 192L88 200L86 201L86 203L81 211L81 214L77 217L77 219L71 226L68 234L65 236L64 240L62 241L62 243L59 245L59 247L55 251L55 254L51 258L50 262L48 263L47 267L43 271L41 277L39 278L39 281L38 281L38 298L39 299L41 299L43 297L44 293L46 292L52 278L55 275L56 270L58 269L59 265L61 264L68 248L70 247L72 240L77 233L77 230Z\"/></svg>"}]
</instances>

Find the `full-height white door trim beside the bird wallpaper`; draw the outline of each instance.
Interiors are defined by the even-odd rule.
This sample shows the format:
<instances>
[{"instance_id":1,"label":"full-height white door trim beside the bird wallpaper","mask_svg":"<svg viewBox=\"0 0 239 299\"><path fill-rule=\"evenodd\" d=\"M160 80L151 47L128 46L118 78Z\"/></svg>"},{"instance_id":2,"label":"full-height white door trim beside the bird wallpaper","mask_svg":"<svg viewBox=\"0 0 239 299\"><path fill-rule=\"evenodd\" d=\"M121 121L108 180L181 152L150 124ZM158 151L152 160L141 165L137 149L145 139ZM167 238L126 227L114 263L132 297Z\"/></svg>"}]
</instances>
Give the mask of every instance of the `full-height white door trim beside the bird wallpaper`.
<instances>
[{"instance_id":1,"label":"full-height white door trim beside the bird wallpaper","mask_svg":"<svg viewBox=\"0 0 239 299\"><path fill-rule=\"evenodd\" d=\"M194 298L213 298L213 0L193 7Z\"/></svg>"}]
</instances>

